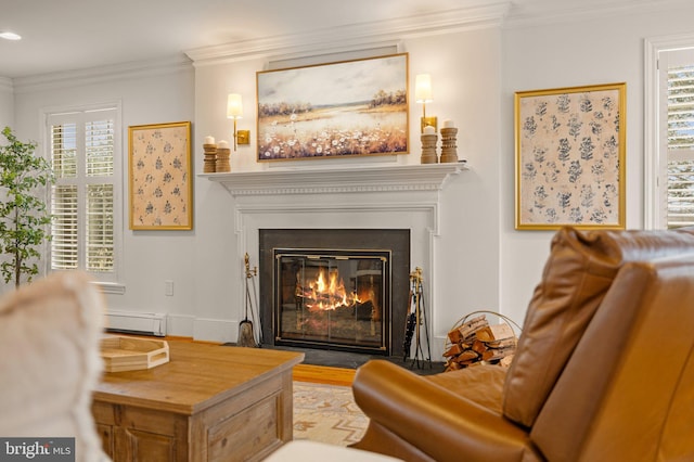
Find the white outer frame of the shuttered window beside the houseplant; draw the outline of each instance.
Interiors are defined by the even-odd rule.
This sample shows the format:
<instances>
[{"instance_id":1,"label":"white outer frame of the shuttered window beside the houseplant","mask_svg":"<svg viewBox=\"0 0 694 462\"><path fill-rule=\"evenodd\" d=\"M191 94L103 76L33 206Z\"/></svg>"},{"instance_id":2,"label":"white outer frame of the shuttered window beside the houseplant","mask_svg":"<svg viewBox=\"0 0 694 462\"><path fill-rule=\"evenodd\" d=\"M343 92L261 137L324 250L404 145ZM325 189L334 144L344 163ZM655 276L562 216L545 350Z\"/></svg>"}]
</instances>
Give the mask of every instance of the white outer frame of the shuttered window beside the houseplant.
<instances>
[{"instance_id":1,"label":"white outer frame of the shuttered window beside the houseplant","mask_svg":"<svg viewBox=\"0 0 694 462\"><path fill-rule=\"evenodd\" d=\"M100 110L115 110L114 114L114 159L113 159L113 185L114 185L114 270L113 272L95 272L95 271L87 271L83 267L80 267L81 271L90 274L95 284L101 286L104 293L110 294L124 294L125 285L123 283L123 269L124 269L124 257L123 257L123 240L124 240L124 220L123 220L123 196L124 196L124 154L123 154L123 108L120 100L107 101L103 103L94 103L94 104L81 104L81 105L68 105L68 106L52 106L44 107L41 110L41 140L43 140L43 156L51 162L52 153L51 153L51 130L50 130L50 118L54 115L60 114L69 114L69 113L85 113L91 111L100 111ZM47 201L49 205L51 204L51 188L47 188L46 192ZM81 205L80 205L81 206ZM80 223L80 227L83 223ZM51 268L51 243L47 243L46 246L46 255L48 258L46 259L46 271L63 271L63 270L54 270ZM80 244L80 252L82 252L83 246L86 245L83 242Z\"/></svg>"}]
</instances>

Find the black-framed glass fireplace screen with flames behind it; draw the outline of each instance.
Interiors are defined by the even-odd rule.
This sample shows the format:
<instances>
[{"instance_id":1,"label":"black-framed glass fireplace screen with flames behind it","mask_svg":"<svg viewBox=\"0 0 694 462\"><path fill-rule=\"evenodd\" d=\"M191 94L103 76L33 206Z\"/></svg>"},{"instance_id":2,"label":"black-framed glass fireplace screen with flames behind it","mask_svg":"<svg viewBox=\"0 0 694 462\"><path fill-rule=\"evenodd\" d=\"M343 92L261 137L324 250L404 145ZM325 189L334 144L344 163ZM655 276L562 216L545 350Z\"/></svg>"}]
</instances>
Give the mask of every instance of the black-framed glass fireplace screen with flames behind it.
<instances>
[{"instance_id":1,"label":"black-framed glass fireplace screen with flames behind it","mask_svg":"<svg viewBox=\"0 0 694 462\"><path fill-rule=\"evenodd\" d=\"M275 248L275 344L385 354L389 262L389 251Z\"/></svg>"}]
</instances>

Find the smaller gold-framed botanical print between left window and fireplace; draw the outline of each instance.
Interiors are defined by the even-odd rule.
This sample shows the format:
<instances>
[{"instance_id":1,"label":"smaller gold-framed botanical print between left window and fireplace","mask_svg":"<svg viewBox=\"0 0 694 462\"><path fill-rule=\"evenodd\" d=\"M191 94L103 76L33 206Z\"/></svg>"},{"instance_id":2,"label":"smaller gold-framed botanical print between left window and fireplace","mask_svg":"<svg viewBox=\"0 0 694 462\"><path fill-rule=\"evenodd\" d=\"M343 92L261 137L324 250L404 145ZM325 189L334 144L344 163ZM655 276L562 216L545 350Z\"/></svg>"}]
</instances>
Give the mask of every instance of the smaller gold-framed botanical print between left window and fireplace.
<instances>
[{"instance_id":1,"label":"smaller gold-framed botanical print between left window and fireplace","mask_svg":"<svg viewBox=\"0 0 694 462\"><path fill-rule=\"evenodd\" d=\"M191 123L128 130L131 230L193 229Z\"/></svg>"}]
</instances>

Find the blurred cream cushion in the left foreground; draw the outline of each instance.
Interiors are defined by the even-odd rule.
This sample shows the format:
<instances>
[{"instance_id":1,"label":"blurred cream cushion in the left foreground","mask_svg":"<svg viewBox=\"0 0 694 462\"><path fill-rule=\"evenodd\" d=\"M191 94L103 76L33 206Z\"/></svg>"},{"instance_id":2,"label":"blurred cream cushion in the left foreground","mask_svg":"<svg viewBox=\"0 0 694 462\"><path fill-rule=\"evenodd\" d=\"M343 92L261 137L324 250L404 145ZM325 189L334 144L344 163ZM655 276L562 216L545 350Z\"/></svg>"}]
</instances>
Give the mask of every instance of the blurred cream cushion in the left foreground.
<instances>
[{"instance_id":1,"label":"blurred cream cushion in the left foreground","mask_svg":"<svg viewBox=\"0 0 694 462\"><path fill-rule=\"evenodd\" d=\"M0 299L0 435L75 437L77 461L106 460L91 414L105 300L79 272Z\"/></svg>"}]
</instances>

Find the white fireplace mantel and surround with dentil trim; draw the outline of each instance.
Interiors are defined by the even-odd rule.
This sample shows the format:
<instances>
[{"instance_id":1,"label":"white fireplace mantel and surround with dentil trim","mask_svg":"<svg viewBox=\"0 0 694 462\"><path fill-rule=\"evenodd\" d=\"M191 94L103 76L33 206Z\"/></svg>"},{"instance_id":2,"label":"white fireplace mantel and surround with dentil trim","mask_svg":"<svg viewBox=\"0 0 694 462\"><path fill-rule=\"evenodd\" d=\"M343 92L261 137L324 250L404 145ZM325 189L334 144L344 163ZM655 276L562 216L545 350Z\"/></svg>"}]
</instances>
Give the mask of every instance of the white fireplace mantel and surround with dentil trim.
<instances>
[{"instance_id":1,"label":"white fireplace mantel and surround with dentil trim","mask_svg":"<svg viewBox=\"0 0 694 462\"><path fill-rule=\"evenodd\" d=\"M440 193L465 169L463 163L368 165L200 177L219 182L231 194L237 249L240 255L247 252L252 261L258 261L260 229L409 229L410 267L422 268L424 274L432 358L440 358L442 337L435 338L433 332L436 294L427 281L436 280Z\"/></svg>"}]
</instances>

